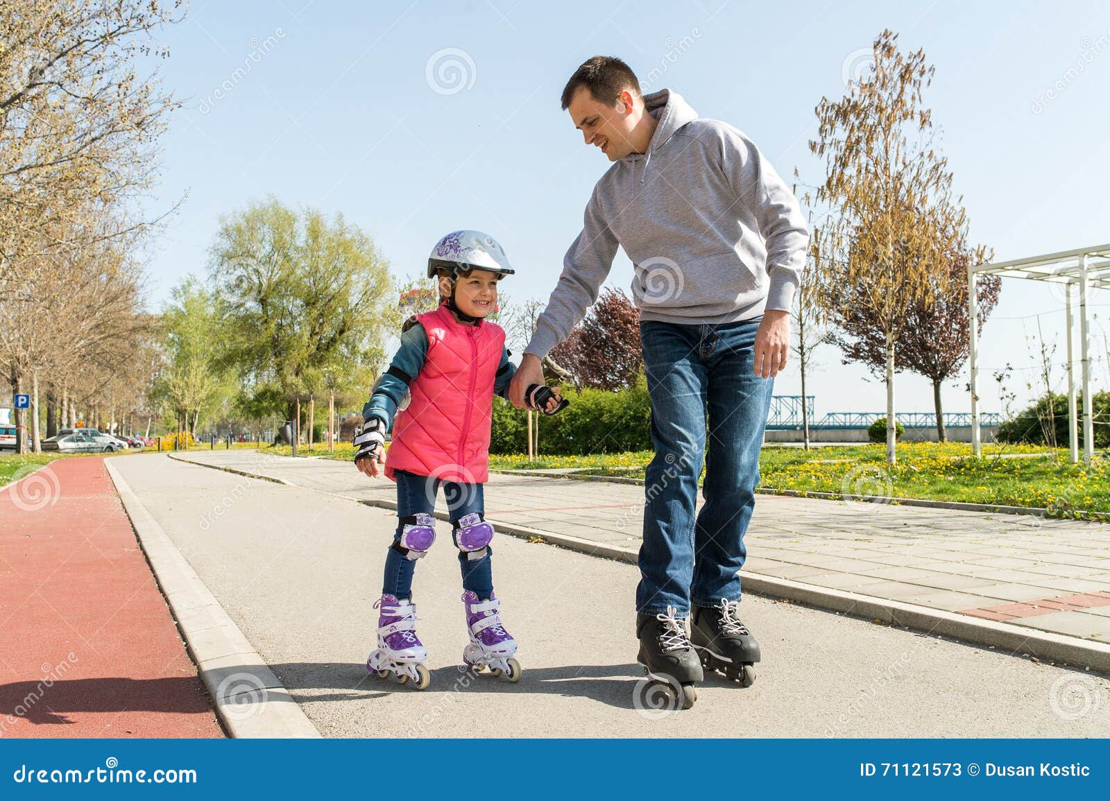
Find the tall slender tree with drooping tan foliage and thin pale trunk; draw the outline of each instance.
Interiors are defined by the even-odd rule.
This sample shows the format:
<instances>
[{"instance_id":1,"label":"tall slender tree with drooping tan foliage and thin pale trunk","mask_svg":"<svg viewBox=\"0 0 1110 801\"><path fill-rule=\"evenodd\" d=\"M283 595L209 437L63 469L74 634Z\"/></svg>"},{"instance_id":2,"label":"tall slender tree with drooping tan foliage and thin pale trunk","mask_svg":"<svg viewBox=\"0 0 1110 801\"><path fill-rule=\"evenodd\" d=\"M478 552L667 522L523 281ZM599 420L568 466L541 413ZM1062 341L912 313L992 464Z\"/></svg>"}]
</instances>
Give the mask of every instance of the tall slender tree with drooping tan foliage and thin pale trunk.
<instances>
[{"instance_id":1,"label":"tall slender tree with drooping tan foliage and thin pale trunk","mask_svg":"<svg viewBox=\"0 0 1110 801\"><path fill-rule=\"evenodd\" d=\"M874 70L848 94L817 105L818 138L810 150L826 160L817 201L833 213L813 235L815 286L840 324L866 313L886 356L887 419L895 414L895 348L908 310L929 304L951 237L966 229L951 199L951 173L934 145L931 114L921 89L934 68L925 52L904 54L897 34L875 40ZM887 462L895 462L896 426L887 426Z\"/></svg>"}]
</instances>

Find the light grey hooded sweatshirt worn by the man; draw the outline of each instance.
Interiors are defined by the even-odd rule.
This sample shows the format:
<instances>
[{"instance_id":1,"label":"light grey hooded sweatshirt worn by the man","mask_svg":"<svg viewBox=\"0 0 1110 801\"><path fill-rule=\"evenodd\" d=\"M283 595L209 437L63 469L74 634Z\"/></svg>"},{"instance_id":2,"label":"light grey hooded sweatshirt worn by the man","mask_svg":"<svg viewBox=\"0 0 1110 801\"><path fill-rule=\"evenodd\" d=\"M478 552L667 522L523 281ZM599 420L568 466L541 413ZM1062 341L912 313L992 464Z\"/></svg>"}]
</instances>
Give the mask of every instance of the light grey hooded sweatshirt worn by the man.
<instances>
[{"instance_id":1,"label":"light grey hooded sweatshirt worn by the man","mask_svg":"<svg viewBox=\"0 0 1110 801\"><path fill-rule=\"evenodd\" d=\"M635 268L640 320L723 324L790 308L809 241L790 187L751 140L698 119L676 93L644 104L659 121L647 152L620 159L594 186L525 353L542 358L569 336L617 245Z\"/></svg>"}]
</instances>

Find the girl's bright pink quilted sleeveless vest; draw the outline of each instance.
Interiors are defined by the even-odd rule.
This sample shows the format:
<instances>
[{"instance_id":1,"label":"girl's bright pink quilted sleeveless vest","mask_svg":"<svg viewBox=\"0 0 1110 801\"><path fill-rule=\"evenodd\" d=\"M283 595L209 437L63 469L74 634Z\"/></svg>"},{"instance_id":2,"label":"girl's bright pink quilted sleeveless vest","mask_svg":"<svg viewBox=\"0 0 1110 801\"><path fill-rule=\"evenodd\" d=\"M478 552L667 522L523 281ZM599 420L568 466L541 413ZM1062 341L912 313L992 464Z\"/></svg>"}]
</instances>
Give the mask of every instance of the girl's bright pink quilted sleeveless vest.
<instances>
[{"instance_id":1,"label":"girl's bright pink quilted sleeveless vest","mask_svg":"<svg viewBox=\"0 0 1110 801\"><path fill-rule=\"evenodd\" d=\"M395 470L406 470L444 481L485 484L493 384L505 332L484 321L463 325L446 306L416 320L427 332L427 356L408 385L408 408L398 412L393 424L385 475L394 478Z\"/></svg>"}]
</instances>

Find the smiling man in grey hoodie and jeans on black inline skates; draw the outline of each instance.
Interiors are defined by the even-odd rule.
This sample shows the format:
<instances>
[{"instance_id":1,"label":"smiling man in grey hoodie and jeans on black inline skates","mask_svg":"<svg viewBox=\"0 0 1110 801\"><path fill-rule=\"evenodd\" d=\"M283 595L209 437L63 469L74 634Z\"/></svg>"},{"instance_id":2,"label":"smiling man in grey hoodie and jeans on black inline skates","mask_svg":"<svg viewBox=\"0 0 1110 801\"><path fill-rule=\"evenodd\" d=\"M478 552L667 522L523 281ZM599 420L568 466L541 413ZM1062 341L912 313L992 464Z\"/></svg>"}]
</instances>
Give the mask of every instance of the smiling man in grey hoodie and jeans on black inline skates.
<instances>
[{"instance_id":1,"label":"smiling man in grey hoodie and jeans on black inline skates","mask_svg":"<svg viewBox=\"0 0 1110 801\"><path fill-rule=\"evenodd\" d=\"M755 678L759 647L737 617L739 570L808 232L750 140L698 119L674 92L642 95L619 59L584 63L562 102L613 166L594 187L509 397L523 408L524 391L543 384L542 358L597 300L624 247L655 445L636 590L639 661L689 707L703 665L745 686ZM695 514L704 457L705 505Z\"/></svg>"}]
</instances>

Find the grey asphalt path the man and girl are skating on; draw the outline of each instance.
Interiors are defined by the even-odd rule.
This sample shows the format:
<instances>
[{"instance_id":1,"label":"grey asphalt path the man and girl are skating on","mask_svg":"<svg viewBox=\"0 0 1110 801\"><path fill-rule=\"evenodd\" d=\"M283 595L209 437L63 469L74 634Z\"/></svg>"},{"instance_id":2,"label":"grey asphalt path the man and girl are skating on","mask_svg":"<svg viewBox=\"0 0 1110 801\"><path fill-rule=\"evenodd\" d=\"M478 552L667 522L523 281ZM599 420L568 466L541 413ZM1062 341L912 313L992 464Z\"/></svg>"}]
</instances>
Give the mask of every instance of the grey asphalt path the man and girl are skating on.
<instances>
[{"instance_id":1,"label":"grey asphalt path the man and girl are skating on","mask_svg":"<svg viewBox=\"0 0 1110 801\"><path fill-rule=\"evenodd\" d=\"M756 683L741 689L709 679L694 709L652 719L634 700L635 566L508 536L494 544L495 585L506 626L522 643L524 677L518 685L492 677L470 682L457 670L465 629L446 525L417 571L420 633L431 651L433 685L415 692L367 677L364 668L395 526L391 511L164 455L113 464L326 737L1088 737L1110 730L1103 677L755 596L745 599L744 615L764 648ZM347 468L334 474L340 487L325 478L333 467ZM383 481L359 480L342 463L283 459L270 469L306 481L315 476L331 489L392 491ZM493 484L491 508L503 509L507 493L519 489L534 494L533 507L551 507L553 518L569 514L549 484L502 477ZM577 501L595 505L584 496Z\"/></svg>"}]
</instances>

